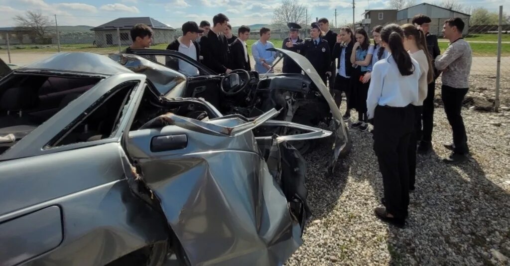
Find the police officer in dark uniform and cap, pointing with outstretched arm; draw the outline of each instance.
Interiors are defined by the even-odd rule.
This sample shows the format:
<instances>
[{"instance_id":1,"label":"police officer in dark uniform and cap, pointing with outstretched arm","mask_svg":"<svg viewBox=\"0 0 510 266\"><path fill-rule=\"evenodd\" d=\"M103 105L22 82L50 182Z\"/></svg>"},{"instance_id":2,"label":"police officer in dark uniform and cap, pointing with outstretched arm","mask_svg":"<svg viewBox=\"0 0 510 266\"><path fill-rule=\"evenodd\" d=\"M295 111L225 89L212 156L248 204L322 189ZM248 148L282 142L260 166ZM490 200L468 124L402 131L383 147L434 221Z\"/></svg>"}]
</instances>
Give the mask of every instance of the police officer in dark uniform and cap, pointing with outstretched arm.
<instances>
[{"instance_id":1,"label":"police officer in dark uniform and cap, pointing with outstretched arm","mask_svg":"<svg viewBox=\"0 0 510 266\"><path fill-rule=\"evenodd\" d=\"M321 36L319 23L312 23L310 37L312 38L301 43L294 44L289 41L285 45L292 51L300 50L326 84L327 77L331 76L331 52L329 51L329 44Z\"/></svg>"}]
</instances>

